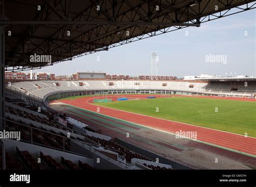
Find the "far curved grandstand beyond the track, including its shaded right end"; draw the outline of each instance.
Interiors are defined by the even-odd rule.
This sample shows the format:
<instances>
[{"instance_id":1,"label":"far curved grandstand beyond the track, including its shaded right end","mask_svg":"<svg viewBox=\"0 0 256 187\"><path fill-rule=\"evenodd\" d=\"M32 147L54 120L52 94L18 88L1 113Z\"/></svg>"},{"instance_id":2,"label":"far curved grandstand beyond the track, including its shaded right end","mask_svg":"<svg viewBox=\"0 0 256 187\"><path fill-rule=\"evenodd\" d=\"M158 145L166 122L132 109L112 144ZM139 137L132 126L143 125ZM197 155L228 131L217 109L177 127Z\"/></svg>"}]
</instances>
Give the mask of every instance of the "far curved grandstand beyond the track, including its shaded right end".
<instances>
[{"instance_id":1,"label":"far curved grandstand beyond the track, including its shaded right end","mask_svg":"<svg viewBox=\"0 0 256 187\"><path fill-rule=\"evenodd\" d=\"M111 84L110 84L111 83ZM58 84L58 85L56 85ZM80 84L83 84L82 86ZM233 82L180 82L180 81L29 81L15 82L7 89L26 96L46 99L51 93L73 92L75 95L103 95L125 93L181 94L206 96L254 97L255 81L248 84ZM38 88L39 87L39 88ZM237 88L237 89L235 89ZM70 95L71 96L71 95ZM62 98L62 97L59 97Z\"/></svg>"}]
</instances>

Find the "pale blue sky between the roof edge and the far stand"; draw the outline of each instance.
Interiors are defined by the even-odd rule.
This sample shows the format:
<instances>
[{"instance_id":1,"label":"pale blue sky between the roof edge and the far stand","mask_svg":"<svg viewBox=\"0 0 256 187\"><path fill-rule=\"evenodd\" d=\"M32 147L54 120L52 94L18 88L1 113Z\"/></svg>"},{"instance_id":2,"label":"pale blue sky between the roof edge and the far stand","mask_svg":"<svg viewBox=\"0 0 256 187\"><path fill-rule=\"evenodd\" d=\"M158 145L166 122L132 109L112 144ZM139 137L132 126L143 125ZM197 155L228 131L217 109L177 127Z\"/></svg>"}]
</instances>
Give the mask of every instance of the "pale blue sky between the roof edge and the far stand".
<instances>
[{"instance_id":1,"label":"pale blue sky between the roof edge and the far stand","mask_svg":"<svg viewBox=\"0 0 256 187\"><path fill-rule=\"evenodd\" d=\"M236 73L255 76L255 9L208 21L200 27L187 27L160 34L37 71L56 75L68 75L77 71L148 75L151 73L152 51L156 51L159 56L158 75L184 77ZM226 55L227 63L206 62L206 55L210 54Z\"/></svg>"}]
</instances>

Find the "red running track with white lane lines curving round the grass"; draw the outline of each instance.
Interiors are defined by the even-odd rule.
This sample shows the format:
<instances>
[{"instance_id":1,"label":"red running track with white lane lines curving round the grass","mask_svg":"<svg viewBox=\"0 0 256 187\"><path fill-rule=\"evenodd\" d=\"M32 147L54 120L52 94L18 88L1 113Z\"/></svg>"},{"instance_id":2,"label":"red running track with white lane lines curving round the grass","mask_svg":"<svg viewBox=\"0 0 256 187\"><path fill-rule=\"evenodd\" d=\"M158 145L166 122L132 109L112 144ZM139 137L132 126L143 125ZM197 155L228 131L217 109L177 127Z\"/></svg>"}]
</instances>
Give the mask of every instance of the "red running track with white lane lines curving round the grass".
<instances>
[{"instance_id":1,"label":"red running track with white lane lines curving round the grass","mask_svg":"<svg viewBox=\"0 0 256 187\"><path fill-rule=\"evenodd\" d=\"M152 95L107 96L107 98L113 98L114 100L116 100L116 98L118 97L125 97L129 99L146 99L147 96L152 96ZM161 96L158 95L156 97L160 98ZM169 96L169 97L173 97L173 96ZM184 97L184 96L174 96L174 97ZM230 97L230 98L211 97L211 96L187 96L187 97L203 97L203 98L207 97L207 98L216 98L216 99L255 101L255 99L233 98L233 97ZM198 141L211 143L213 145L233 149L238 152L244 152L254 156L256 155L256 138L245 137L239 134L213 130L210 128L204 128L204 127L194 126L190 124L179 123L177 121L160 119L160 118L145 116L143 114L126 112L122 110L111 109L109 107L90 104L92 103L92 100L95 98L106 98L106 96L84 97L84 98L77 98L75 100L64 99L64 100L61 100L61 102L65 104L77 106L82 109L90 110L93 112L97 112L97 107L99 107L101 114L105 114L107 116L111 116L114 118L130 121L132 123L154 128L156 130L164 131L167 133L175 133L180 130L197 132Z\"/></svg>"}]
</instances>

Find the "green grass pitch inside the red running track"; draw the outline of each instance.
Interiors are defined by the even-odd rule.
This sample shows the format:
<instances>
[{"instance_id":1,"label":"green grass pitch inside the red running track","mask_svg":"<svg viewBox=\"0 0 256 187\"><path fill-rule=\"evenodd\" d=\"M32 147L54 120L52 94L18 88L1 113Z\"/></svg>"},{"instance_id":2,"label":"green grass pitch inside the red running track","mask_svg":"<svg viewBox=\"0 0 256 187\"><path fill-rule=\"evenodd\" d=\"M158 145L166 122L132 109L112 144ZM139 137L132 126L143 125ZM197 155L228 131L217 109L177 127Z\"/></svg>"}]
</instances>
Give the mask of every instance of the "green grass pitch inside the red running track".
<instances>
[{"instance_id":1,"label":"green grass pitch inside the red running track","mask_svg":"<svg viewBox=\"0 0 256 187\"><path fill-rule=\"evenodd\" d=\"M242 135L247 133L248 136L256 137L256 102L171 97L97 103L97 105L215 130Z\"/></svg>"}]
</instances>

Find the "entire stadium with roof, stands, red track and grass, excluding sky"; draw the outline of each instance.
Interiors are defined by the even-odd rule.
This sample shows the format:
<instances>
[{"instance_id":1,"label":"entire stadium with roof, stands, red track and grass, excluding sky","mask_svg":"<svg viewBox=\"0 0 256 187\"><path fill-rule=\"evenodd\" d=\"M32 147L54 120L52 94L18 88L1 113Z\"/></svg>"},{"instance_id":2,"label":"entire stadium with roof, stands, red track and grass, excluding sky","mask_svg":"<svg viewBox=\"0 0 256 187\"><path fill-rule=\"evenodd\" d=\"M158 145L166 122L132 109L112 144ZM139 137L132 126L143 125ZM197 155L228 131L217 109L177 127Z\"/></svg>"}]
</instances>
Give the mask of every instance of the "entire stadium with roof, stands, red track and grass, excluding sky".
<instances>
[{"instance_id":1,"label":"entire stadium with roof, stands, red track and grass, excluding sky","mask_svg":"<svg viewBox=\"0 0 256 187\"><path fill-rule=\"evenodd\" d=\"M253 1L122 1L126 6L119 1L106 1L105 5L90 1L85 10L80 1L70 1L70 10L60 10L64 1L38 1L43 9L38 14L32 9L37 3L25 2L5 1L4 16L9 19L0 21L1 169L94 172L256 168L253 76L158 76L152 74L152 63L149 76L88 71L67 78L32 73L33 69L54 68L56 63L129 45L131 39L151 37L158 31L199 27L214 14L220 16L213 19L227 16L221 15L222 11L254 9ZM106 7L97 12L98 4ZM216 4L217 11L212 8ZM146 12L149 22L138 9L149 6L150 11L155 5L163 8L162 13ZM240 8L245 5L247 8ZM30 11L11 15L13 6ZM119 12L115 19L107 13L110 9ZM130 20L133 13L145 16L146 21L138 17ZM91 14L88 17L95 19L82 20L79 14ZM126 19L119 19L124 15ZM171 18L164 19L166 15ZM46 32L49 25L52 30ZM132 35L112 37L128 28ZM75 35L68 38L63 33L67 29ZM8 37L8 31L14 37ZM156 53L151 57L154 59Z\"/></svg>"}]
</instances>

